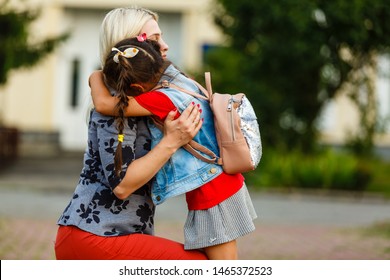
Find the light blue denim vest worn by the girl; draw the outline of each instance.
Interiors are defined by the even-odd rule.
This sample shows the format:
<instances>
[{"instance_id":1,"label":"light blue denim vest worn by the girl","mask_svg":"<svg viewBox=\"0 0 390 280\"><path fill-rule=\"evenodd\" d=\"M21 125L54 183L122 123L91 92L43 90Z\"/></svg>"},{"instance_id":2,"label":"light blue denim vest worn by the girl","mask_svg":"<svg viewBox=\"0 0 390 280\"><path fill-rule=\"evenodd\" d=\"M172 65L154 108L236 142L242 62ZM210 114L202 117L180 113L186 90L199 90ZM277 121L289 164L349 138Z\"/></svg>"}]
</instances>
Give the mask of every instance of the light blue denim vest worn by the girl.
<instances>
[{"instance_id":1,"label":"light blue denim vest worn by the girl","mask_svg":"<svg viewBox=\"0 0 390 280\"><path fill-rule=\"evenodd\" d=\"M164 72L160 81L163 80L167 80L169 83L173 83L181 88L202 94L191 79L185 77L172 65ZM158 91L166 94L179 112L186 109L191 102L200 105L202 109L201 117L204 118L204 122L193 140L207 147L219 157L219 148L214 128L214 116L209 102L207 100L197 99L174 88L160 88ZM149 120L148 126L152 135L152 147L154 147L162 139L163 133L155 126L152 120ZM180 148L156 174L152 185L153 202L155 205L161 204L167 198L186 193L204 185L221 173L222 167L220 165L206 163L197 159L185 149Z\"/></svg>"}]
</instances>

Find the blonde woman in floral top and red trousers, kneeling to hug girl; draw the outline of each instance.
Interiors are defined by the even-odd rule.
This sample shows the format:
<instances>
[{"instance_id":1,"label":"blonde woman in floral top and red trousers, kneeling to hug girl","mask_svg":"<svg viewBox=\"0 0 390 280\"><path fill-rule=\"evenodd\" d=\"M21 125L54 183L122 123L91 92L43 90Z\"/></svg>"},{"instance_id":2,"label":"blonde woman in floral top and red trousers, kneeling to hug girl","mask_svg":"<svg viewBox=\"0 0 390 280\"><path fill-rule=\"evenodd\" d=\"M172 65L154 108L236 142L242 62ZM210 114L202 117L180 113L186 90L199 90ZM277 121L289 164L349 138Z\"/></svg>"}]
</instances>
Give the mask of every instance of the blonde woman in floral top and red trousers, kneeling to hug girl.
<instances>
[{"instance_id":1,"label":"blonde woman in floral top and red trousers, kneeling to hug girl","mask_svg":"<svg viewBox=\"0 0 390 280\"><path fill-rule=\"evenodd\" d=\"M109 12L100 33L102 65L117 41L141 33L158 41L165 56L168 46L157 20L155 13L142 8ZM118 137L115 118L91 111L80 181L58 220L57 259L206 259L200 251L185 251L180 243L153 236L155 208L149 180L202 125L194 105L177 120L173 120L175 114L169 114L163 139L149 151L145 119L127 118ZM118 145L122 146L123 165L117 174ZM124 198L126 188L138 190Z\"/></svg>"}]
</instances>

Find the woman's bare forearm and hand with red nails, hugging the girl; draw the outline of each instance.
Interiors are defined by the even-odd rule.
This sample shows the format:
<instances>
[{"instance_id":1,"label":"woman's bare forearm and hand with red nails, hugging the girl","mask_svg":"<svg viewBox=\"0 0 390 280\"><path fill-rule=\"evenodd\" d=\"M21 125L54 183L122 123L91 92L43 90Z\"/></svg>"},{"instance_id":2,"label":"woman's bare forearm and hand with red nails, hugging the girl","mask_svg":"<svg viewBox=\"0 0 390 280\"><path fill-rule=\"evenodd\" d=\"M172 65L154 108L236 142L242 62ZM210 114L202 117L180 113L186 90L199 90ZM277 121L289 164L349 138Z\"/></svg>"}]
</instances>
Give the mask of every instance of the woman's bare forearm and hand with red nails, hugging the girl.
<instances>
[{"instance_id":1,"label":"woman's bare forearm and hand with red nails, hugging the girl","mask_svg":"<svg viewBox=\"0 0 390 280\"><path fill-rule=\"evenodd\" d=\"M145 156L128 166L125 177L113 190L119 199L127 198L152 179L176 150L187 144L202 126L199 108L193 104L176 120L175 115L175 111L168 114L161 141Z\"/></svg>"}]
</instances>

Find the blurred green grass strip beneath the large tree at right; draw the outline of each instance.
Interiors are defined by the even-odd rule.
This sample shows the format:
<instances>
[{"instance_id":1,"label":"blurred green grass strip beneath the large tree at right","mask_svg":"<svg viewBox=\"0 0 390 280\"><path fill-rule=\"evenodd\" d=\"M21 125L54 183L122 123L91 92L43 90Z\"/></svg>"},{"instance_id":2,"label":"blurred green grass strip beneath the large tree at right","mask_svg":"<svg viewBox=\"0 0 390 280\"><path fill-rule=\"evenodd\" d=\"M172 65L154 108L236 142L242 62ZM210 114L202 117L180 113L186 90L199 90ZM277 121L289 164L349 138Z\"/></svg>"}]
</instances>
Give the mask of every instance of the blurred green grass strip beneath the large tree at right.
<instances>
[{"instance_id":1,"label":"blurred green grass strip beneath the large tree at right","mask_svg":"<svg viewBox=\"0 0 390 280\"><path fill-rule=\"evenodd\" d=\"M324 151L317 155L266 151L255 171L244 174L261 190L335 190L390 198L390 162Z\"/></svg>"}]
</instances>

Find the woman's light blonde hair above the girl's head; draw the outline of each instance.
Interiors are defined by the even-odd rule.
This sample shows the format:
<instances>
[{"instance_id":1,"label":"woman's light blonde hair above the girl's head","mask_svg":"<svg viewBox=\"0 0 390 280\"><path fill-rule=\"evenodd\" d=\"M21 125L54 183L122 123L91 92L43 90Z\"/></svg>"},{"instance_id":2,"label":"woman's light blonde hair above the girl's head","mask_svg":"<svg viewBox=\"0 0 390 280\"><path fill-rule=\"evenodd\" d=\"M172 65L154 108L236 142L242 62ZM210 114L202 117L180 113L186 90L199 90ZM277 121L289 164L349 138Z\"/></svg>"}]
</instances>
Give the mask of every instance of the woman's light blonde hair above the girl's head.
<instances>
[{"instance_id":1,"label":"woman's light blonde hair above the girl's head","mask_svg":"<svg viewBox=\"0 0 390 280\"><path fill-rule=\"evenodd\" d=\"M108 12L100 27L100 62L104 67L111 48L125 38L138 36L149 20L158 21L157 13L136 6L116 8Z\"/></svg>"}]
</instances>

